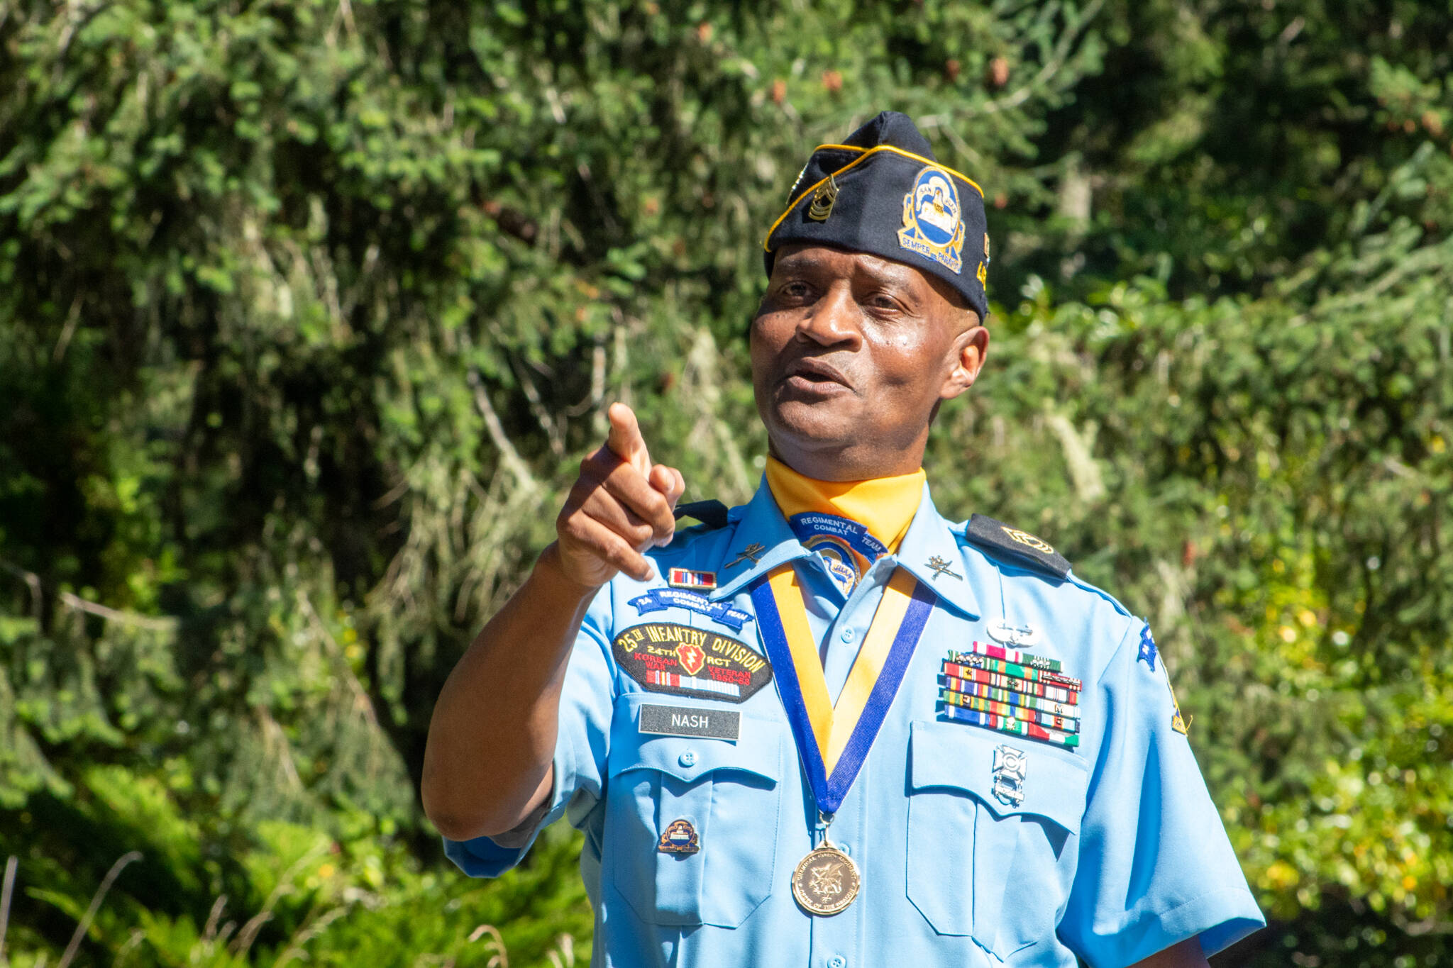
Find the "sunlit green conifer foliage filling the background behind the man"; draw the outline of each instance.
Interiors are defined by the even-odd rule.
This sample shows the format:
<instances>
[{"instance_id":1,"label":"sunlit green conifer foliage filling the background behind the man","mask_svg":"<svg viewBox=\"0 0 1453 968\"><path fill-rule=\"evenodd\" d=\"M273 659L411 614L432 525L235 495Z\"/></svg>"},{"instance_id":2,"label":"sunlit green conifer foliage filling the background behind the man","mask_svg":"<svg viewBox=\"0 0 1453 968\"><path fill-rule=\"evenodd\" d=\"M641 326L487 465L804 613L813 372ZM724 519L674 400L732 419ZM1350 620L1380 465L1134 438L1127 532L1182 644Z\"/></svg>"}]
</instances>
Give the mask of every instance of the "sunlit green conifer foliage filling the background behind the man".
<instances>
[{"instance_id":1,"label":"sunlit green conifer foliage filling the background behind the man","mask_svg":"<svg viewBox=\"0 0 1453 968\"><path fill-rule=\"evenodd\" d=\"M936 499L1149 617L1218 964L1453 964L1450 67L1447 0L0 0L0 956L586 961L568 830L443 862L432 701L610 401L751 492L760 238L892 107L995 242Z\"/></svg>"}]
</instances>

